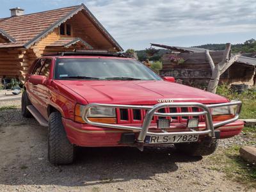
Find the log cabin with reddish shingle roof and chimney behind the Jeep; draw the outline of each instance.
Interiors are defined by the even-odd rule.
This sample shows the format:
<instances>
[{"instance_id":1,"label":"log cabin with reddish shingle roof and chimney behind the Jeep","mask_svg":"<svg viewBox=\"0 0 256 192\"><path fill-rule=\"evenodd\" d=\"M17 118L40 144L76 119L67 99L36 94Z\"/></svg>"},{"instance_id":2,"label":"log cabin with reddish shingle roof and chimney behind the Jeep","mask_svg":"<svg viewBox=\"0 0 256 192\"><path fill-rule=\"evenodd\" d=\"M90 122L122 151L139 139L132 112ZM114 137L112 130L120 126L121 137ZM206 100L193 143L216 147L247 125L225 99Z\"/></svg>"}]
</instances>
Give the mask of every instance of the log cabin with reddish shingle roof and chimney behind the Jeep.
<instances>
[{"instance_id":1,"label":"log cabin with reddish shingle roof and chimney behind the Jeep","mask_svg":"<svg viewBox=\"0 0 256 192\"><path fill-rule=\"evenodd\" d=\"M28 15L21 8L10 11L0 19L0 79L24 81L29 66L49 52L123 51L84 4Z\"/></svg>"}]
</instances>

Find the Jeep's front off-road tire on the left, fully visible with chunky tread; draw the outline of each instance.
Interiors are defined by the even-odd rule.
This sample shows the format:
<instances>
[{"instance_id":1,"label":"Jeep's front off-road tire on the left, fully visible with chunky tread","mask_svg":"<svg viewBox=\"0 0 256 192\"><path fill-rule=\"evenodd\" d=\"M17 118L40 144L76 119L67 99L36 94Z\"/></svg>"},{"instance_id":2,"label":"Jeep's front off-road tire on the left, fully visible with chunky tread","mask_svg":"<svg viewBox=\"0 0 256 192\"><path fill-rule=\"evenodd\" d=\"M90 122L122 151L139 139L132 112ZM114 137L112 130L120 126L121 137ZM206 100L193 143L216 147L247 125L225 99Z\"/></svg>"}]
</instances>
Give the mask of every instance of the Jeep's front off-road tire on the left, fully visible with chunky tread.
<instances>
[{"instance_id":1,"label":"Jeep's front off-road tire on the left, fully visible with chunky tread","mask_svg":"<svg viewBox=\"0 0 256 192\"><path fill-rule=\"evenodd\" d=\"M74 145L68 141L59 112L49 116L48 160L52 164L69 164L74 161Z\"/></svg>"}]
</instances>

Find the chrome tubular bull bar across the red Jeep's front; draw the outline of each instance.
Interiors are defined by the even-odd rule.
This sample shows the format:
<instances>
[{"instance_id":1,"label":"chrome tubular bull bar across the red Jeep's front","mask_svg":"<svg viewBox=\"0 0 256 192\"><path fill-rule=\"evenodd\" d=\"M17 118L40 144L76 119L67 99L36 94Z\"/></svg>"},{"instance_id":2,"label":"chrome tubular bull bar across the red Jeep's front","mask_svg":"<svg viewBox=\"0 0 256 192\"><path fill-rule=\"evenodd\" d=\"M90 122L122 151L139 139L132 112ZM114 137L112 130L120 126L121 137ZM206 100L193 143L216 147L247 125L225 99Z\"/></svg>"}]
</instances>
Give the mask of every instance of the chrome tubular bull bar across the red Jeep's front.
<instances>
[{"instance_id":1,"label":"chrome tubular bull bar across the red Jeep's front","mask_svg":"<svg viewBox=\"0 0 256 192\"><path fill-rule=\"evenodd\" d=\"M212 116L211 116L211 110L210 108L216 108L216 107L222 107L222 106L237 106L236 114L234 118L230 118L228 120L224 120L218 123L212 122ZM99 122L92 122L88 119L88 111L90 108L93 107L106 107L106 108L122 108L122 109L145 109L148 110L145 118L143 120L143 124L141 127L135 127L135 126L128 126L128 125L116 125L116 124L103 124ZM98 103L92 103L88 104L84 107L82 118L84 122L90 125L95 125L99 127L108 127L108 128L114 128L114 129L125 129L125 130L132 130L132 131L140 131L140 134L137 138L137 142L143 143L145 140L146 135L150 136L157 136L157 135L188 135L188 134L208 134L212 138L215 137L214 130L218 127L221 127L222 125L229 124L231 122L236 121L239 118L239 114L241 112L241 101L234 101L234 102L227 102L227 103L220 103L220 104L201 104L199 102L168 102L168 103L160 103L156 104L154 106L132 106L132 105L119 105L119 104L98 104ZM195 107L200 108L202 111L199 112L184 112L184 113L159 113L156 112L159 109L162 108L186 108L186 107ZM153 116L200 116L204 115L205 118L205 130L204 131L184 131L184 132L148 132L148 128L150 127L150 123Z\"/></svg>"}]
</instances>

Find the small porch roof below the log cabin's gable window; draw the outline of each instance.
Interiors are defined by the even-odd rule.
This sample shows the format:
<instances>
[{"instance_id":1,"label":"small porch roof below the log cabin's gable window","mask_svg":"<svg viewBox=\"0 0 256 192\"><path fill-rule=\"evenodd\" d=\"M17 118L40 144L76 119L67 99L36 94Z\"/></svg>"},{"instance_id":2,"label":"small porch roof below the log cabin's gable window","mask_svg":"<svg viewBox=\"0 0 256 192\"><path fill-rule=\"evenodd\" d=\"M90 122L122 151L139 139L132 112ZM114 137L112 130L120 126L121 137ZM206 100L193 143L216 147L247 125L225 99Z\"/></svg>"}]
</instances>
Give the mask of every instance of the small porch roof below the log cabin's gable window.
<instances>
[{"instance_id":1,"label":"small porch roof below the log cabin's gable window","mask_svg":"<svg viewBox=\"0 0 256 192\"><path fill-rule=\"evenodd\" d=\"M74 45L77 42L84 44L89 49L93 49L93 47L90 44L88 44L81 38L60 38L60 40L57 40L56 42L53 42L50 45L47 45L47 47L69 47L70 45Z\"/></svg>"}]
</instances>

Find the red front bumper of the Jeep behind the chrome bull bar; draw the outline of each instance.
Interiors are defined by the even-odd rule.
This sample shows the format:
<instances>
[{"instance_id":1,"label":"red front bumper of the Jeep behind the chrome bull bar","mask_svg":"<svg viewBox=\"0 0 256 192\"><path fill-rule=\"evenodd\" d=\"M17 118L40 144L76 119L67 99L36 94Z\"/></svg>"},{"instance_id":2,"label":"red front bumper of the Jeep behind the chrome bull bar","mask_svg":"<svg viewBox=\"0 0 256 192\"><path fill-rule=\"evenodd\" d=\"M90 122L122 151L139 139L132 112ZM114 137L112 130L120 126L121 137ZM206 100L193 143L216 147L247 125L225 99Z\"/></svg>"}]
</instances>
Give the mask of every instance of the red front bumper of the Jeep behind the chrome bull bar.
<instances>
[{"instance_id":1,"label":"red front bumper of the Jeep behind the chrome bull bar","mask_svg":"<svg viewBox=\"0 0 256 192\"><path fill-rule=\"evenodd\" d=\"M120 142L122 134L135 133L136 136L138 136L138 134L140 133L140 131L111 129L104 127L95 127L87 124L79 124L67 118L63 118L62 122L67 132L67 137L70 143L73 143L81 147L127 146L127 144ZM131 124L131 126L136 126L136 124ZM154 127L154 124L152 124L152 126ZM219 127L218 129L216 129L216 131L220 131L220 139L230 138L232 136L239 134L243 127L244 122L237 120L236 122L232 122L230 124ZM202 124L200 124L200 130L204 129L205 125L202 122ZM157 129L150 129L150 131L159 132L159 130ZM182 132L188 131L188 129L186 129L186 126L182 124L175 124L168 131ZM207 136L207 134L202 135L200 137L200 140L205 136Z\"/></svg>"}]
</instances>

